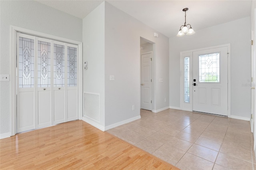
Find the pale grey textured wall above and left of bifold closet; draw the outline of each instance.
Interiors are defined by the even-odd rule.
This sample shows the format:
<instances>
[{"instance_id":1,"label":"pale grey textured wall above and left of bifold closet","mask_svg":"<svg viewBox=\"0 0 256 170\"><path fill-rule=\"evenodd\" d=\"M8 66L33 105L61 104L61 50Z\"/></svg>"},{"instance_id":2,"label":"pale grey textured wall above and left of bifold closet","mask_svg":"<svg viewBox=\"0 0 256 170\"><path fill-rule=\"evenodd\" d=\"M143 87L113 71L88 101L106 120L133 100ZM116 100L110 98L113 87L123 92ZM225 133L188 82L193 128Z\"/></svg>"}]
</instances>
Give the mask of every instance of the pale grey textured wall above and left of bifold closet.
<instances>
[{"instance_id":1,"label":"pale grey textured wall above and left of bifold closet","mask_svg":"<svg viewBox=\"0 0 256 170\"><path fill-rule=\"evenodd\" d=\"M0 73L10 74L10 26L82 42L82 20L35 1L0 1ZM0 134L10 133L10 81L0 82Z\"/></svg>"}]
</instances>

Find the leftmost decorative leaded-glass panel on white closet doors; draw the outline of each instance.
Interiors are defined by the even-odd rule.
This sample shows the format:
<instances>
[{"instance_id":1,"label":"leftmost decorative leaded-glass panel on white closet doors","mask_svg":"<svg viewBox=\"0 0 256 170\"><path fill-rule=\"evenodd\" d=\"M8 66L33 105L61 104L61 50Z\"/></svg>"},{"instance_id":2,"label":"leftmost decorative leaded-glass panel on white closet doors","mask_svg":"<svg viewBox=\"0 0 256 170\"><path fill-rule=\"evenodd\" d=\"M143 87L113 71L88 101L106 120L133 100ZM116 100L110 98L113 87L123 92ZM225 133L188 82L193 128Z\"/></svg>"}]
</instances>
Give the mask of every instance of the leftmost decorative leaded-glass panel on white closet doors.
<instances>
[{"instance_id":1,"label":"leftmost decorative leaded-glass panel on white closet doors","mask_svg":"<svg viewBox=\"0 0 256 170\"><path fill-rule=\"evenodd\" d=\"M34 87L34 40L19 37L19 87Z\"/></svg>"}]
</instances>

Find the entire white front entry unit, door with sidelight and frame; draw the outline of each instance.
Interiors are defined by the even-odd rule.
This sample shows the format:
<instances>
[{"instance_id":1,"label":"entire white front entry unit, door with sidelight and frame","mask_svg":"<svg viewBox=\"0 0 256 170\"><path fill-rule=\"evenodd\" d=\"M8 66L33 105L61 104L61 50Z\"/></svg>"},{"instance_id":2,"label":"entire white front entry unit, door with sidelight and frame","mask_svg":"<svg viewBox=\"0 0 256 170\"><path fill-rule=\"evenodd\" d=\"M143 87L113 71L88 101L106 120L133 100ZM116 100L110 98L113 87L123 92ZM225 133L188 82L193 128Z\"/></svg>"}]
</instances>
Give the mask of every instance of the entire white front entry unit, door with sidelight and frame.
<instances>
[{"instance_id":1,"label":"entire white front entry unit, door with sidelight and frame","mask_svg":"<svg viewBox=\"0 0 256 170\"><path fill-rule=\"evenodd\" d=\"M230 117L230 44L180 54L181 110Z\"/></svg>"}]
</instances>

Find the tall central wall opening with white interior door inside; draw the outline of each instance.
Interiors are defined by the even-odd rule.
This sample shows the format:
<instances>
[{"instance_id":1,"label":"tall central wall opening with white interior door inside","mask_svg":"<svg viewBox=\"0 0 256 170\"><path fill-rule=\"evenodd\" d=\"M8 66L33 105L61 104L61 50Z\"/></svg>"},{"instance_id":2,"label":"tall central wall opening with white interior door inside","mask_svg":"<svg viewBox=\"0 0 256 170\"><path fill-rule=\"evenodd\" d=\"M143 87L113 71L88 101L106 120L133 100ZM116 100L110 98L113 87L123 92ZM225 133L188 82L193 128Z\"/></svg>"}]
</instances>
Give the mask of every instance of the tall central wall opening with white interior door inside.
<instances>
[{"instance_id":1,"label":"tall central wall opening with white interior door inside","mask_svg":"<svg viewBox=\"0 0 256 170\"><path fill-rule=\"evenodd\" d=\"M140 109L153 109L153 43L140 38Z\"/></svg>"}]
</instances>

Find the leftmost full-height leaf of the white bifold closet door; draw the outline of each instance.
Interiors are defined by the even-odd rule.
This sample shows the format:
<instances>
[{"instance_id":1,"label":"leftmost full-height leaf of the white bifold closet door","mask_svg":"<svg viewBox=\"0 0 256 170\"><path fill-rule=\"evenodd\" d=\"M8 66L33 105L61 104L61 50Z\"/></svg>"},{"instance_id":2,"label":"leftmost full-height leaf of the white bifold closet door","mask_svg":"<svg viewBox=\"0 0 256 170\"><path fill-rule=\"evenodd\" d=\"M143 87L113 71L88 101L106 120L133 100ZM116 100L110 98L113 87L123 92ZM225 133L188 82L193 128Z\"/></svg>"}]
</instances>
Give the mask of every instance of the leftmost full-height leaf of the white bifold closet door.
<instances>
[{"instance_id":1,"label":"leftmost full-height leaf of the white bifold closet door","mask_svg":"<svg viewBox=\"0 0 256 170\"><path fill-rule=\"evenodd\" d=\"M17 132L36 128L34 36L17 33Z\"/></svg>"}]
</instances>

